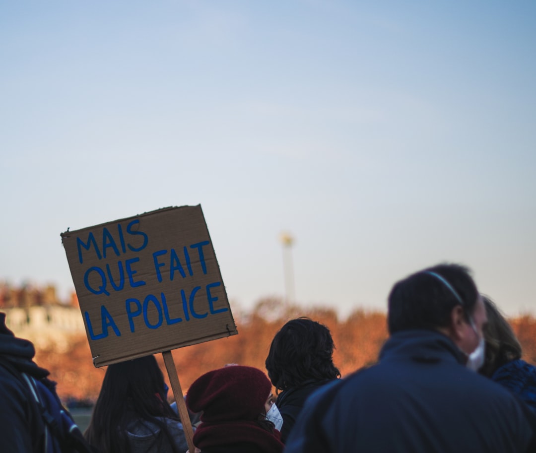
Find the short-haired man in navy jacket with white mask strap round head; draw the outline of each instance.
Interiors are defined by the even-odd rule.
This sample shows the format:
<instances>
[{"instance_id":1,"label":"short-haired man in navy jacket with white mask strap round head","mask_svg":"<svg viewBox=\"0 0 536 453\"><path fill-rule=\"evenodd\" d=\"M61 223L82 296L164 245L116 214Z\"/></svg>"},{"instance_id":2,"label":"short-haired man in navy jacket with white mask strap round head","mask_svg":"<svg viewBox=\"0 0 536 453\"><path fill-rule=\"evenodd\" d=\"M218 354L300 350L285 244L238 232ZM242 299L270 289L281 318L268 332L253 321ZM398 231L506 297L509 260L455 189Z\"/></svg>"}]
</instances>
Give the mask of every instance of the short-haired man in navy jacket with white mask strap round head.
<instances>
[{"instance_id":1,"label":"short-haired man in navy jacket with white mask strap round head","mask_svg":"<svg viewBox=\"0 0 536 453\"><path fill-rule=\"evenodd\" d=\"M483 363L485 323L462 266L399 281L379 362L314 393L285 452L535 451L531 411L474 372Z\"/></svg>"}]
</instances>

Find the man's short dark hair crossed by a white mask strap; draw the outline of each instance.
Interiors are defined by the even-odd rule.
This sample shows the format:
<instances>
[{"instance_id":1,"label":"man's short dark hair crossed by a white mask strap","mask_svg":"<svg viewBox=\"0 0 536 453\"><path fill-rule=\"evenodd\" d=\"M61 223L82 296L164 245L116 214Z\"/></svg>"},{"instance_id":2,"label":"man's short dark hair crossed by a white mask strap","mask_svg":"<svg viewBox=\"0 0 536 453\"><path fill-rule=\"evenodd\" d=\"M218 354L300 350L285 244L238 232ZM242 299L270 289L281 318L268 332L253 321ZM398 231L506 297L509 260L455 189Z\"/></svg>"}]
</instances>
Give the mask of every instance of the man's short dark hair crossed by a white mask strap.
<instances>
[{"instance_id":1,"label":"man's short dark hair crossed by a white mask strap","mask_svg":"<svg viewBox=\"0 0 536 453\"><path fill-rule=\"evenodd\" d=\"M447 284L454 289L461 303ZM471 271L460 264L438 264L415 272L394 284L389 294L389 333L401 330L435 330L450 323L452 309L461 305L469 320L478 299Z\"/></svg>"}]
</instances>

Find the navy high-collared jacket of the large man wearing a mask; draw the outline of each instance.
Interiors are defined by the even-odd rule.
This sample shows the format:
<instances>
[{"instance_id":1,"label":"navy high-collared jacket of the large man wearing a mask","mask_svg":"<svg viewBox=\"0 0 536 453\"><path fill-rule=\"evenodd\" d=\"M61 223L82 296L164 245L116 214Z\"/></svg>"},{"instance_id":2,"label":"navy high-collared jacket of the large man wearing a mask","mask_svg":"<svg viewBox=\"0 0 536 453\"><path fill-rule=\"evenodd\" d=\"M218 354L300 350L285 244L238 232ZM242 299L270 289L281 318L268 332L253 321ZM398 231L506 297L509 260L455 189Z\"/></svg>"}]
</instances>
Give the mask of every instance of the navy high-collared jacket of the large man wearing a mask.
<instances>
[{"instance_id":1,"label":"navy high-collared jacket of the large man wearing a mask","mask_svg":"<svg viewBox=\"0 0 536 453\"><path fill-rule=\"evenodd\" d=\"M308 399L285 453L535 451L534 414L465 360L441 333L395 333L377 365Z\"/></svg>"}]
</instances>

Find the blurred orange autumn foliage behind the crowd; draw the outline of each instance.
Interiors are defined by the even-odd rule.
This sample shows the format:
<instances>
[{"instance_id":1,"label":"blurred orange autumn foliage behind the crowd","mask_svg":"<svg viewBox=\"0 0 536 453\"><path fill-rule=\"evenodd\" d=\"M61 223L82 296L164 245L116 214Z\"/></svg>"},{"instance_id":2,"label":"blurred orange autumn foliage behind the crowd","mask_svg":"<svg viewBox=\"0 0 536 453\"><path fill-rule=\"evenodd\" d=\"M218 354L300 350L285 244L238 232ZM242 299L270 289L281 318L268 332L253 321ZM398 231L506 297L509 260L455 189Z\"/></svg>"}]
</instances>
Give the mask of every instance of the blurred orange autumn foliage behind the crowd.
<instances>
[{"instance_id":1,"label":"blurred orange autumn foliage behind the crowd","mask_svg":"<svg viewBox=\"0 0 536 453\"><path fill-rule=\"evenodd\" d=\"M200 375L226 363L253 366L266 372L264 361L273 336L283 324L296 317L307 316L331 330L336 345L333 361L343 377L374 363L388 337L386 316L377 311L356 309L345 320L339 320L336 311L330 308L287 307L278 299L264 299L249 313L234 315L239 335L173 351L183 391ZM523 358L535 363L536 319L522 316L510 322L523 346ZM156 357L169 384L162 356ZM50 370L62 399L95 400L99 395L105 368L93 366L85 336L73 337L66 353L39 350L35 361Z\"/></svg>"}]
</instances>

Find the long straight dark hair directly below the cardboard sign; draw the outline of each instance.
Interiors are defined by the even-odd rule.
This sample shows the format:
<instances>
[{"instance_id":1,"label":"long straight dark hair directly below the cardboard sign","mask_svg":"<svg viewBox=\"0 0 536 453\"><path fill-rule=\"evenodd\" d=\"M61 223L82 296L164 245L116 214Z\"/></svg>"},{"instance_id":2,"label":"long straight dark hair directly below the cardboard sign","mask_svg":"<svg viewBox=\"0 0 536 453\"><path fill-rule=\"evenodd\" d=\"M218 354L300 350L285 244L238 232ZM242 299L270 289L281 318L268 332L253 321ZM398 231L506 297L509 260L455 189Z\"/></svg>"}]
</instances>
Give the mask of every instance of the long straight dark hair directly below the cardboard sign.
<instances>
[{"instance_id":1,"label":"long straight dark hair directly below the cardboard sign","mask_svg":"<svg viewBox=\"0 0 536 453\"><path fill-rule=\"evenodd\" d=\"M166 400L164 387L163 374L152 355L108 366L84 433L87 441L103 453L129 452L128 425L142 420L159 426L177 451L166 422L160 419L180 420Z\"/></svg>"}]
</instances>

